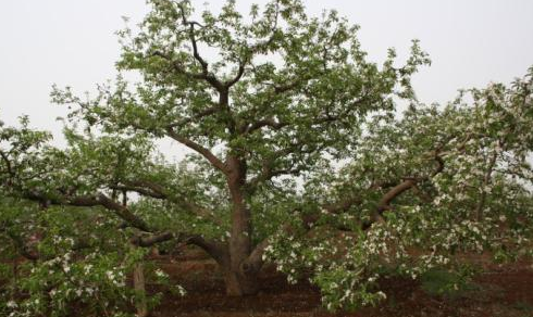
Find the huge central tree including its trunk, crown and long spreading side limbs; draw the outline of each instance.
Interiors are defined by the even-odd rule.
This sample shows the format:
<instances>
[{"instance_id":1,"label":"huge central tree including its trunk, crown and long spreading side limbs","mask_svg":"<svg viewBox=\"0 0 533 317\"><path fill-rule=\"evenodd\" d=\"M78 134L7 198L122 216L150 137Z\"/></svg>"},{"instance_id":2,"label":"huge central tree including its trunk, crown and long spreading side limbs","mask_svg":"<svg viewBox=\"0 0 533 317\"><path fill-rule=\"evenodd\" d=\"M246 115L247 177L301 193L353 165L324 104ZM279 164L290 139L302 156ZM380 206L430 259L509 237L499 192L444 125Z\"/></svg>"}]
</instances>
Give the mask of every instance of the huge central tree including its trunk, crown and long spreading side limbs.
<instances>
[{"instance_id":1,"label":"huge central tree including its trunk, crown and long spreading side limbs","mask_svg":"<svg viewBox=\"0 0 533 317\"><path fill-rule=\"evenodd\" d=\"M66 150L26 122L2 128L5 195L108 211L138 246L198 245L231 295L257 292L266 259L290 281L311 270L331 309L384 297L384 270L416 278L531 236L532 72L469 91L473 104L423 106L409 81L429 63L417 42L404 66L391 50L379 67L357 27L297 0L248 18L234 1L199 20L188 1L150 3L140 30L121 33L119 69L139 83L52 92L86 128L66 129ZM401 118L395 98L412 103ZM170 164L159 138L194 154Z\"/></svg>"}]
</instances>

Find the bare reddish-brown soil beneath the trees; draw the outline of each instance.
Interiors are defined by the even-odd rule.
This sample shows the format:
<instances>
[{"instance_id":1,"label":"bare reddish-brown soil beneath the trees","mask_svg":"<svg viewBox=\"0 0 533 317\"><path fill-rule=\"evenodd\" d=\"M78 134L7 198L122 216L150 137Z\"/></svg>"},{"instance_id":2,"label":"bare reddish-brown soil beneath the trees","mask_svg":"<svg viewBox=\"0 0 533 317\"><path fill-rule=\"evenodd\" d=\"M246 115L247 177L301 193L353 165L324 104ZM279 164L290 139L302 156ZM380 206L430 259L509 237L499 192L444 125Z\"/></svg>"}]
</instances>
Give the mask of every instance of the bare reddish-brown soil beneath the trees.
<instances>
[{"instance_id":1,"label":"bare reddish-brown soil beneath the trees","mask_svg":"<svg viewBox=\"0 0 533 317\"><path fill-rule=\"evenodd\" d=\"M410 279L384 280L387 300L380 306L337 314L322 308L315 288L305 281L289 286L273 268L262 272L258 295L237 299L224 294L215 263L201 252L188 251L177 258L160 257L156 262L187 290L187 295L163 292L153 317L533 317L533 266L525 262L487 266L473 281L474 289L455 296L430 295L420 282Z\"/></svg>"}]
</instances>

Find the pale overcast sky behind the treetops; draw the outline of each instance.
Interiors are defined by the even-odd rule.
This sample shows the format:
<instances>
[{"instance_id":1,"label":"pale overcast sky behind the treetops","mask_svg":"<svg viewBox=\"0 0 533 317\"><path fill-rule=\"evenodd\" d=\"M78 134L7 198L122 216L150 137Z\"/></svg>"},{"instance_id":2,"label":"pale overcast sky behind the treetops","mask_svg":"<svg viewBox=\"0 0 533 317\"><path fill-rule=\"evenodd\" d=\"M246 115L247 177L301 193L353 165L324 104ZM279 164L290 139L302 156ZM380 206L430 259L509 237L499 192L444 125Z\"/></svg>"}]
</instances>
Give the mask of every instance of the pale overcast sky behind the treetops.
<instances>
[{"instance_id":1,"label":"pale overcast sky behind the treetops","mask_svg":"<svg viewBox=\"0 0 533 317\"><path fill-rule=\"evenodd\" d=\"M200 8L203 0L194 1ZM222 1L208 1L219 7ZM237 0L248 12L250 3ZM532 0L305 0L310 14L337 9L361 26L369 58L382 61L389 47L400 56L420 39L433 61L414 77L423 102L446 102L459 88L509 83L533 65ZM66 109L50 103L52 84L94 91L112 79L119 45L114 31L129 16L139 22L142 0L2 0L0 2L0 118L21 114L34 127L52 130Z\"/></svg>"}]
</instances>

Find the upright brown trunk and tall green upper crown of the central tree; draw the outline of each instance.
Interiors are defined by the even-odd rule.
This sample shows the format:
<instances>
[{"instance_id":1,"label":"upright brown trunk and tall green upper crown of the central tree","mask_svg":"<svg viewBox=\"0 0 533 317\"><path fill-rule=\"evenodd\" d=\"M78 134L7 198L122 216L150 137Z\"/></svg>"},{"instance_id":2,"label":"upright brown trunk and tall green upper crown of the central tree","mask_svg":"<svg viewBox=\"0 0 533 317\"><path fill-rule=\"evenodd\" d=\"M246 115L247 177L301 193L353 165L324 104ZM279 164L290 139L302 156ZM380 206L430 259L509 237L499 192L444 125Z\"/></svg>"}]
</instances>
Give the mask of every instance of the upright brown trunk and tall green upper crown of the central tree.
<instances>
[{"instance_id":1,"label":"upright brown trunk and tall green upper crown of the central tree","mask_svg":"<svg viewBox=\"0 0 533 317\"><path fill-rule=\"evenodd\" d=\"M255 293L266 244L253 243L258 193L273 178L315 169L326 153L346 156L369 113L391 110L395 94L410 96L410 75L425 55L414 45L407 64L395 67L391 51L380 68L365 61L357 27L336 12L308 17L300 1L252 7L248 16L228 1L199 20L189 1L150 4L140 31L122 33L119 69L142 77L134 90L119 79L88 102L69 90L53 97L76 104L72 115L106 132L169 137L201 155L223 179L227 202L171 198L172 188L148 179L116 186L196 213L227 208L227 242L191 243L223 267L227 293Z\"/></svg>"}]
</instances>

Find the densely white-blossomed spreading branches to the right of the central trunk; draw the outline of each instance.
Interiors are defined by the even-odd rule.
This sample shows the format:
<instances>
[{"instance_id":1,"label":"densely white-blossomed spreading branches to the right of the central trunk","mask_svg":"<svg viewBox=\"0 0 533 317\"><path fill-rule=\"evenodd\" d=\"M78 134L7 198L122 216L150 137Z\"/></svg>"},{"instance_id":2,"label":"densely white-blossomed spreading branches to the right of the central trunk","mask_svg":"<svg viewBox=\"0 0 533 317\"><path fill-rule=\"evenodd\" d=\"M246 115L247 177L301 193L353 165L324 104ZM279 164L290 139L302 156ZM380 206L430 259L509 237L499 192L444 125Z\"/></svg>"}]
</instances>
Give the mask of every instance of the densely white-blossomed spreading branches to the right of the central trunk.
<instances>
[{"instance_id":1,"label":"densely white-blossomed spreading branches to the right of the central trunk","mask_svg":"<svg viewBox=\"0 0 533 317\"><path fill-rule=\"evenodd\" d=\"M350 163L307 183L305 196L325 202L320 216L280 233L268 256L289 280L312 271L334 309L385 297L381 275L461 271L458 253L533 255L532 92L530 68L510 88L492 84L445 107L371 121Z\"/></svg>"}]
</instances>

